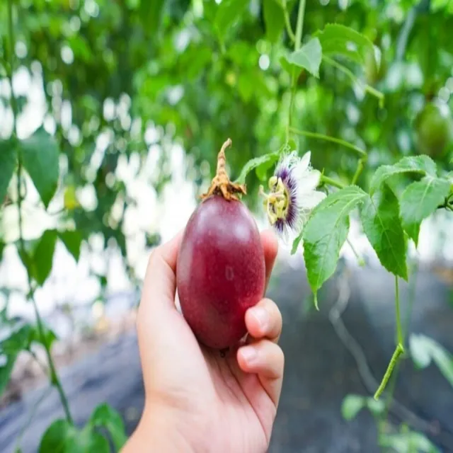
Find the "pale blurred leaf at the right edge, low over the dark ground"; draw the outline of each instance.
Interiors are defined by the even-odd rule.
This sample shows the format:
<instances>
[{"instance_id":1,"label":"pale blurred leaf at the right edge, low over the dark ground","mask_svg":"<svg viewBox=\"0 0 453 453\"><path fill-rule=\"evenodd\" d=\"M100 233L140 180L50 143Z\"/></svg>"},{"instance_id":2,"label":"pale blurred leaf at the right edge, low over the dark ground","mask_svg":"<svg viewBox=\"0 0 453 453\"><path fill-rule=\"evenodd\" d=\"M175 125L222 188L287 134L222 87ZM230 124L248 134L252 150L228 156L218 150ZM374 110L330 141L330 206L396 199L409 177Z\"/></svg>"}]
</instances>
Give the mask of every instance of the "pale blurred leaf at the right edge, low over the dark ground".
<instances>
[{"instance_id":1,"label":"pale blurred leaf at the right edge, low over the dark ground","mask_svg":"<svg viewBox=\"0 0 453 453\"><path fill-rule=\"evenodd\" d=\"M426 368L431 360L435 362L445 379L453 386L453 357L432 338L413 333L409 338L409 348L415 365Z\"/></svg>"}]
</instances>

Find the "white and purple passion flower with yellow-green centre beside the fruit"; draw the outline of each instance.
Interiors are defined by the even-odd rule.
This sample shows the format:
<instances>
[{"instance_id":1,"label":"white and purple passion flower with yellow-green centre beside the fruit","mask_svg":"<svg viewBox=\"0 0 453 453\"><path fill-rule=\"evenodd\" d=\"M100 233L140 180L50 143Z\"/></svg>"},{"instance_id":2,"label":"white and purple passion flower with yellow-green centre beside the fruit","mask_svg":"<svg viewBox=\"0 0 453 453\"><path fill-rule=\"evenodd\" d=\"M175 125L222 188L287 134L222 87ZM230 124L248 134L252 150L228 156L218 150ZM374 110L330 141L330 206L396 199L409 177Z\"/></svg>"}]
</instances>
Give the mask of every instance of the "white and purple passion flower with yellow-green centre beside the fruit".
<instances>
[{"instance_id":1,"label":"white and purple passion flower with yellow-green centre beside the fruit","mask_svg":"<svg viewBox=\"0 0 453 453\"><path fill-rule=\"evenodd\" d=\"M285 242L301 234L311 211L326 197L316 190L321 173L311 168L310 158L310 151L302 158L297 151L284 154L269 179L270 193L260 187L269 223Z\"/></svg>"}]
</instances>

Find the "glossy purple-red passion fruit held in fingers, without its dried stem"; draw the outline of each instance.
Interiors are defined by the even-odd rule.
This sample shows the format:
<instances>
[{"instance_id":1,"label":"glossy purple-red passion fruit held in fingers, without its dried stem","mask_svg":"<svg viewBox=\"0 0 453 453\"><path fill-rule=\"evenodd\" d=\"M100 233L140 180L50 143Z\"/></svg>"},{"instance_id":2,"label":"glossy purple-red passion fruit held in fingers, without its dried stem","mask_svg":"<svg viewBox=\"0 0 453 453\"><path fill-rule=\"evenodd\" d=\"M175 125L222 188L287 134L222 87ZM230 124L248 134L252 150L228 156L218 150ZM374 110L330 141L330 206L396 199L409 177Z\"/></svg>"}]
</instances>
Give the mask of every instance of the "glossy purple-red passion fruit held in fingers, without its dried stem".
<instances>
[{"instance_id":1,"label":"glossy purple-red passion fruit held in fingers, without its dried stem","mask_svg":"<svg viewBox=\"0 0 453 453\"><path fill-rule=\"evenodd\" d=\"M213 195L193 212L176 284L183 316L201 343L222 350L246 334L246 310L264 294L265 260L258 227L241 201Z\"/></svg>"}]
</instances>

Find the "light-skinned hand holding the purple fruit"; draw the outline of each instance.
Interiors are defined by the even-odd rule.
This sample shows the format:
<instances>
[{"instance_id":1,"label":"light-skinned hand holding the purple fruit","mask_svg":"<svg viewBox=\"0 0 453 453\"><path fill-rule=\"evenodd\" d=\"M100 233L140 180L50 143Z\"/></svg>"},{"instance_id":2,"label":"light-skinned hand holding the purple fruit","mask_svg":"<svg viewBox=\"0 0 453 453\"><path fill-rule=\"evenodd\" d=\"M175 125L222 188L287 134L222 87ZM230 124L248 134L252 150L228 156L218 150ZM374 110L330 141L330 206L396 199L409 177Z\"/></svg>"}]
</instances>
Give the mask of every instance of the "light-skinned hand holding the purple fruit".
<instances>
[{"instance_id":1,"label":"light-skinned hand holding the purple fruit","mask_svg":"<svg viewBox=\"0 0 453 453\"><path fill-rule=\"evenodd\" d=\"M123 453L265 452L282 389L282 316L270 299L246 311L248 340L222 357L200 345L175 306L182 232L151 254L137 313L145 407ZM266 286L277 256L261 235Z\"/></svg>"}]
</instances>

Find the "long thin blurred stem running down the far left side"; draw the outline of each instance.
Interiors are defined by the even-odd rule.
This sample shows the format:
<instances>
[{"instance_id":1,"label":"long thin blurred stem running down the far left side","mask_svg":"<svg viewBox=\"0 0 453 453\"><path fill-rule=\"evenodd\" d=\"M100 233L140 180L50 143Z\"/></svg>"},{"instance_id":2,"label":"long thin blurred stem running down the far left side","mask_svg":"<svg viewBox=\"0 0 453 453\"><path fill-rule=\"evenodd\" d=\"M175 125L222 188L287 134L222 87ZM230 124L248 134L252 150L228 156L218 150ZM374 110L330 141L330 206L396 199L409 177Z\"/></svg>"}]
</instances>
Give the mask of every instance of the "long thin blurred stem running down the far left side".
<instances>
[{"instance_id":1,"label":"long thin blurred stem running down the far left side","mask_svg":"<svg viewBox=\"0 0 453 453\"><path fill-rule=\"evenodd\" d=\"M10 40L10 83L11 83L11 107L13 108L13 139L17 139L16 137L16 118L18 115L18 109L17 109L17 103L16 103L16 98L13 93L13 73L14 73L14 28L13 28L13 0L8 0L8 27L9 27L9 40ZM17 205L18 205L18 216L19 216L19 247L21 249L21 253L23 256L28 258L28 253L25 248L25 241L23 239L23 217L22 217L22 202L23 202L23 196L21 193L21 176L22 176L22 159L21 159L21 153L18 151L18 166L17 166ZM28 259L26 260L28 261ZM47 362L49 365L50 369L50 382L52 385L54 385L57 388L57 391L59 393L60 400L62 401L62 405L64 408L64 413L66 414L66 418L69 423L72 422L72 417L71 413L69 411L69 404L67 401L67 397L64 394L64 390L62 387L61 382L59 381L57 371L55 369L55 364L52 359L52 355L50 354L50 347L47 344L47 341L45 340L45 333L44 333L44 326L42 324L42 319L40 316L40 312L38 310L38 305L36 304L35 301L35 289L33 288L32 285L32 277L30 275L30 271L28 270L27 267L27 279L28 279L28 289L29 289L29 299L31 300L33 304L33 309L35 311L35 316L36 316L36 324L38 326L38 335L40 338L40 342L45 348L45 353L47 356Z\"/></svg>"}]
</instances>

